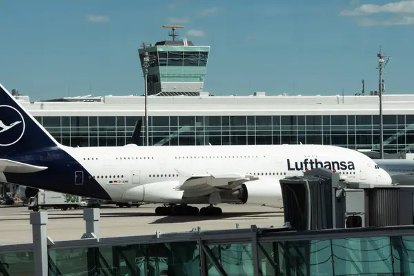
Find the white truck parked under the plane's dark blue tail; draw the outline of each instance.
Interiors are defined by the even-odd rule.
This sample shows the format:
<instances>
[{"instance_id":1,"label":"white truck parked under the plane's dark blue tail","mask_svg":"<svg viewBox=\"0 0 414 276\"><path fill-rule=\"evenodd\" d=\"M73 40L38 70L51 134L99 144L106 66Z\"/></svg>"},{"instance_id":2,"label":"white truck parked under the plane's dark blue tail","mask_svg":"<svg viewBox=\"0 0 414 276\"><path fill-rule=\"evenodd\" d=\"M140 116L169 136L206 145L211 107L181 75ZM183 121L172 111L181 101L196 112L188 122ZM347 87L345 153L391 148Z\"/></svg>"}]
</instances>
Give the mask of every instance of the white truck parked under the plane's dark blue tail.
<instances>
[{"instance_id":1,"label":"white truck parked under the plane's dark blue tail","mask_svg":"<svg viewBox=\"0 0 414 276\"><path fill-rule=\"evenodd\" d=\"M36 196L30 197L28 201L29 210L37 212L39 209L77 209L81 204L81 199L77 195L68 195L51 192L50 190L39 190Z\"/></svg>"}]
</instances>

